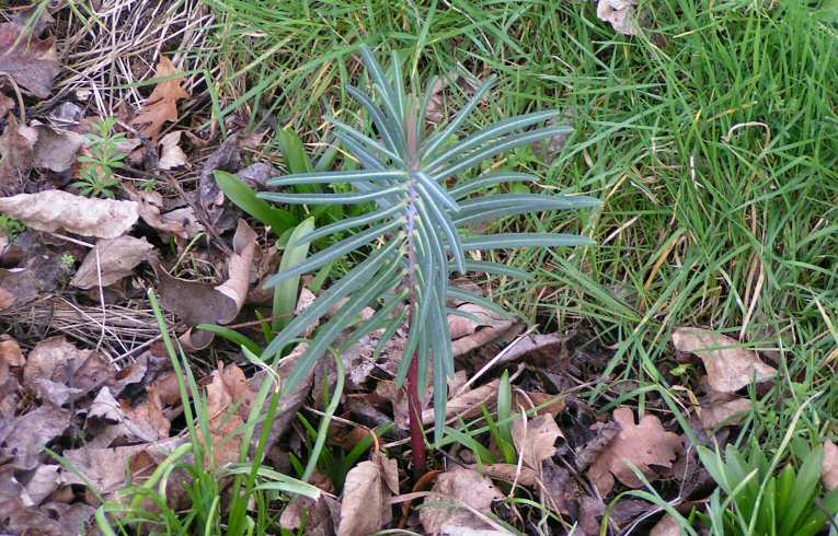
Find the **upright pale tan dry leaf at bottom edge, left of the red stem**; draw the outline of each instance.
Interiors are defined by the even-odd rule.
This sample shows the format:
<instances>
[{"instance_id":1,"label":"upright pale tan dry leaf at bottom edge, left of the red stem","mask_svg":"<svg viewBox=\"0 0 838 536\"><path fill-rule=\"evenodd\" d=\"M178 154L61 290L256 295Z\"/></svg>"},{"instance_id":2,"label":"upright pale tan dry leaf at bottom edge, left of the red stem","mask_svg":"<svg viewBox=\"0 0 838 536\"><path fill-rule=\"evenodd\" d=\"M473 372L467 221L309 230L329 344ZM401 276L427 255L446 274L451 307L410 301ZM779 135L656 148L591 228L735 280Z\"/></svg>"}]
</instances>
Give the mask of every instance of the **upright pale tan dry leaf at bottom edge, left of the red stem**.
<instances>
[{"instance_id":1,"label":"upright pale tan dry leaf at bottom edge, left of the red stem","mask_svg":"<svg viewBox=\"0 0 838 536\"><path fill-rule=\"evenodd\" d=\"M353 467L343 487L337 535L366 536L380 531L392 520L389 498L381 463L361 462Z\"/></svg>"}]
</instances>

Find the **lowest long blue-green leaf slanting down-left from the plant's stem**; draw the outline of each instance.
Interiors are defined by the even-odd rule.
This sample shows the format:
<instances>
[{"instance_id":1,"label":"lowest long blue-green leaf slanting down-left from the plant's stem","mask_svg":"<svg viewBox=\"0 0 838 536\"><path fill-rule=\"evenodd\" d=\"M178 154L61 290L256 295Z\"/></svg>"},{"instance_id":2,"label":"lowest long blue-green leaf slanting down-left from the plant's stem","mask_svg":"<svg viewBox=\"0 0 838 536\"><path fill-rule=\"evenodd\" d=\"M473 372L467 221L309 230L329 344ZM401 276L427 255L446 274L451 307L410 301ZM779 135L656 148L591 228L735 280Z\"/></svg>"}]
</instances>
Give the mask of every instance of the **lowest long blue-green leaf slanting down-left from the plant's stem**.
<instances>
[{"instance_id":1,"label":"lowest long blue-green leaf slanting down-left from the plant's stem","mask_svg":"<svg viewBox=\"0 0 838 536\"><path fill-rule=\"evenodd\" d=\"M367 306L369 302L376 300L384 290L394 284L392 276L398 269L398 263L390 263L383 272L379 273L376 281L358 293L335 313L332 318L318 329L314 340L311 341L308 350L303 353L294 372L283 383L283 388L292 392L295 387L308 376L317 361L325 353L332 342L343 334L352 319Z\"/></svg>"}]
</instances>

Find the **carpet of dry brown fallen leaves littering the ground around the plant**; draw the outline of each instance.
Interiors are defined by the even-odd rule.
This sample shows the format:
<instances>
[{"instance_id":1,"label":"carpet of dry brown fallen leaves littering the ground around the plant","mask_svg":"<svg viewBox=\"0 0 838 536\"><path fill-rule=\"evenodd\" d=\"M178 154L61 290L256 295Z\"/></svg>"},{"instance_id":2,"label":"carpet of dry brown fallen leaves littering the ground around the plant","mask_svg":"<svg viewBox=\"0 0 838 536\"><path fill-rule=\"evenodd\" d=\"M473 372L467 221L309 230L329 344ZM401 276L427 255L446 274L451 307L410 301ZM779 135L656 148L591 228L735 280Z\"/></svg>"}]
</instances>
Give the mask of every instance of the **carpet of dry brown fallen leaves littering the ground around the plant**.
<instances>
[{"instance_id":1,"label":"carpet of dry brown fallen leaves littering the ground around the plant","mask_svg":"<svg viewBox=\"0 0 838 536\"><path fill-rule=\"evenodd\" d=\"M597 15L616 32L630 35L640 31L635 10L632 1L600 0ZM33 45L25 53L13 48L0 56L0 72L10 73L24 90L25 103L47 98L61 70L55 39L38 37L50 27L48 19L37 26L33 34L23 35ZM22 27L19 22L0 25L0 43L13 34L16 39ZM62 189L67 187L65 177L74 173L78 155L87 154L88 127L100 117L84 117L83 107L67 101L57 103L46 117L19 121L8 116L24 112L18 109L18 100L0 92L0 121L5 121L0 135L0 194L5 196L0 198L0 211L26 225L24 234L35 236L32 242L25 236L7 238L0 310L21 311L45 298L72 296L82 306L72 303L70 308L79 308L81 322L89 324L88 337L82 338L47 328L39 331L41 339L15 329L15 335L22 335L21 343L11 337L0 340L0 494L19 508L0 508L0 523L13 533L28 523L45 533L61 534L56 518L65 526L84 525L95 505L79 492L87 482L106 499L114 499L129 482L148 478L186 441L179 420L183 408L176 378L165 365L168 358L156 338L159 333L126 345L123 357L127 359L111 360L99 346L103 337L114 335L91 322L91 311L101 310L104 317L119 311L114 304L134 301L141 306L147 303L145 290L154 287L190 356L211 363L199 371L209 411L209 435L202 435L200 441L211 445L214 453L206 459L207 469L218 470L237 462L242 450L250 451L252 445L242 445L238 431L249 417L255 393L263 382L273 381L248 364L236 346L214 340L211 334L194 326L206 323L238 329L241 325L248 336L264 340L260 338L260 315L265 310L250 298L260 290L259 281L275 270L283 248L272 238L265 240L269 234L261 224L241 218L214 172L234 173L260 190L267 189L266 179L282 170L275 162L250 159L259 154L253 140L264 132L251 133L232 121L228 127L234 133L221 140L215 130L187 127L203 121L182 116L179 108L192 95L184 89L184 72L169 59L171 50L164 50L153 73L162 80L136 115L133 109L120 113L116 128L128 137L120 151L128 154L133 167L119 172L113 199L90 199ZM21 62L25 68L12 72ZM188 71L186 65L182 68ZM455 77L452 83L467 94L474 91L464 77ZM445 120L443 91L443 85L437 88L429 106L432 124ZM196 95L193 104L197 102ZM176 130L165 132L174 124ZM564 141L553 140L546 150L558 152ZM16 257L7 253L10 250L16 250ZM460 283L480 292L474 282L454 282ZM322 289L311 293L303 288L300 302L310 303L320 292ZM480 422L485 412L496 417L502 405L501 373L509 372L515 417L504 426L515 459L505 459L498 440L482 433L477 441L494 458L492 463L475 463L475 453L462 445L446 447L435 463L436 470L422 477L427 487L414 488L426 496L400 496L417 483L407 476L411 467L403 446L406 404L403 389L394 382L405 338L400 330L375 351L382 336L379 330L342 356L351 381L338 406L341 417L331 423L329 445L335 447L340 439L341 447L349 451L382 424L395 427L377 436L370 455L347 467L345 479L314 471L311 481L323 493L317 500L287 503L283 527L299 529L308 523L309 534L324 535L369 534L399 525L428 534L505 534L498 520L532 522L531 510L510 506L506 500L506 491L515 482L513 492L524 489L523 493L538 498L563 520L577 522L577 534L598 534L608 499L640 487L632 467L665 494L673 491L671 480L682 478L686 486L690 476L679 476L676 468L688 464L685 452L690 445L673 420L662 422L665 413L656 412L662 409L659 404L652 400L652 411L636 421L631 408L597 415L596 407L583 410L584 405L574 399L571 393L585 382L608 385L613 380L600 377L612 353L583 348L596 348L595 337L525 334L521 323L479 305L452 301L449 306L457 374L448 383L448 423L458 428ZM119 333L130 334L137 318L118 316L118 322L128 326ZM153 318L150 322L156 329ZM737 418L753 410L742 389L776 374L756 352L715 331L680 328L673 341L678 351L697 356L704 365L704 395L690 421L696 422L697 433L735 427ZM280 377L289 376L306 348L303 341L285 358ZM323 366L283 394L279 417L268 433L272 456L266 464L289 453L306 454L297 416L321 418L323 393L334 384L330 371ZM425 404L432 398L429 388ZM528 412L526 418L519 416L521 411ZM422 418L426 423L433 421L427 406ZM365 428L367 424L358 423L365 419L376 421L367 421L370 428ZM257 427L254 435L260 432ZM84 444L78 441L80 434L87 438ZM45 448L60 453L83 478L57 465ZM823 474L827 487L838 482L836 458L836 448L827 443ZM188 478L169 481L172 504L188 508L187 486ZM676 493L666 497L684 500ZM422 504L412 515L397 520L393 506L400 501ZM648 504L643 501L627 503L615 518L621 525L630 523L644 506ZM559 525L551 529L555 534L563 531Z\"/></svg>"}]
</instances>

